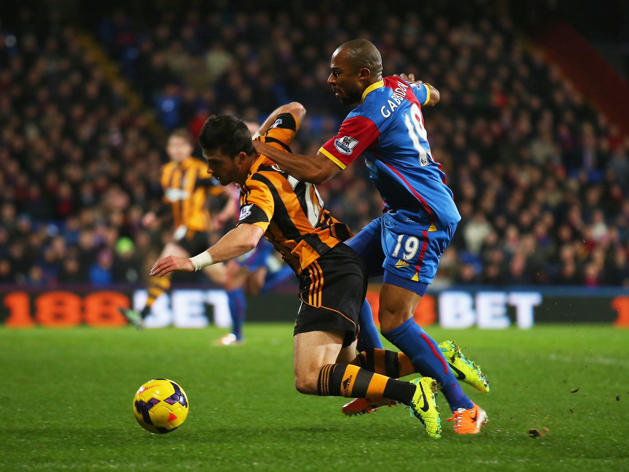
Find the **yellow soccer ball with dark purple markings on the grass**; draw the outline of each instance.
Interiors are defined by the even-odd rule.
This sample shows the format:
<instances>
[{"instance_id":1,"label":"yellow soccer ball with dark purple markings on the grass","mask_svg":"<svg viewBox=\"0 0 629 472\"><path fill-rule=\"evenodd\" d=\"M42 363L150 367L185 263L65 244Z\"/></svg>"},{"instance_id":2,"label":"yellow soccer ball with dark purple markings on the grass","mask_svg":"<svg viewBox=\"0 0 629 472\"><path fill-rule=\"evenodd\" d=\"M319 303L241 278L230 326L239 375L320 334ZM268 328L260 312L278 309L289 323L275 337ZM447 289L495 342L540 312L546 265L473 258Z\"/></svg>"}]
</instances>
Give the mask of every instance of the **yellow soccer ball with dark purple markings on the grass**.
<instances>
[{"instance_id":1,"label":"yellow soccer ball with dark purple markings on the grass","mask_svg":"<svg viewBox=\"0 0 629 472\"><path fill-rule=\"evenodd\" d=\"M188 397L169 379L153 379L138 388L133 398L133 415L145 430L157 434L174 431L186 421Z\"/></svg>"}]
</instances>

